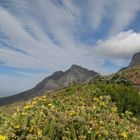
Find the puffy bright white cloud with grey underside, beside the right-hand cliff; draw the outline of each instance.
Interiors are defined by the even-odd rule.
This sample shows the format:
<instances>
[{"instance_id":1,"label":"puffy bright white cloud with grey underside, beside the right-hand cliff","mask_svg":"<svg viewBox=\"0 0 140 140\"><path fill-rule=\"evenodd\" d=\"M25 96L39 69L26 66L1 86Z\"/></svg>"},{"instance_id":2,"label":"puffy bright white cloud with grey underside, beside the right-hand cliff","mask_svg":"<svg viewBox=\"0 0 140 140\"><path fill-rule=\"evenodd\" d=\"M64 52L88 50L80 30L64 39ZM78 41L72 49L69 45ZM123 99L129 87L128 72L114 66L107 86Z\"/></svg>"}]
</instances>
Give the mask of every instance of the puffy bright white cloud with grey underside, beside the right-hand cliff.
<instances>
[{"instance_id":1,"label":"puffy bright white cloud with grey underside, beside the right-hand cliff","mask_svg":"<svg viewBox=\"0 0 140 140\"><path fill-rule=\"evenodd\" d=\"M99 40L95 48L95 52L100 57L104 60L108 59L118 66L127 65L133 54L139 51L140 33L133 30L121 32L107 40Z\"/></svg>"}]
</instances>

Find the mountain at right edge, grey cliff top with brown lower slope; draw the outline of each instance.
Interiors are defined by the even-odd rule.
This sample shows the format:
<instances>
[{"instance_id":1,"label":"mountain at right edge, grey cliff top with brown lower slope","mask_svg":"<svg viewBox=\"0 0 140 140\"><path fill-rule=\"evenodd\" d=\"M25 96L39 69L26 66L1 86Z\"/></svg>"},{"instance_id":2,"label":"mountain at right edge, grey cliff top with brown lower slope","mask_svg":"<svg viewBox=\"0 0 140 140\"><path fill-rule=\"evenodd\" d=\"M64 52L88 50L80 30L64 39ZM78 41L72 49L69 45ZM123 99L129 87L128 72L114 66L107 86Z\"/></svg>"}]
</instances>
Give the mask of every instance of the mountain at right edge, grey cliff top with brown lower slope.
<instances>
[{"instance_id":1,"label":"mountain at right edge, grey cliff top with brown lower slope","mask_svg":"<svg viewBox=\"0 0 140 140\"><path fill-rule=\"evenodd\" d=\"M128 67L120 70L135 85L140 85L140 52L133 55Z\"/></svg>"}]
</instances>

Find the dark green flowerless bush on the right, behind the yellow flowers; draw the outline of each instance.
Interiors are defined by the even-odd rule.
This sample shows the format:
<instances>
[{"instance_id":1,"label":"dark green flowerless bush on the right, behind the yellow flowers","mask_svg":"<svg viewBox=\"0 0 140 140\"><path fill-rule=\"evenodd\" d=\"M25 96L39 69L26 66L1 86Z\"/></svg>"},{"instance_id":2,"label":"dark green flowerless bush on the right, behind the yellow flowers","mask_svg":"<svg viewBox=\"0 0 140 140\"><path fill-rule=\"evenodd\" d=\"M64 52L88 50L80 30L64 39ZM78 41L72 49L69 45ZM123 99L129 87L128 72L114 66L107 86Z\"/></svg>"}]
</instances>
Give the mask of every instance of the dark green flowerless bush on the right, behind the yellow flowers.
<instances>
[{"instance_id":1,"label":"dark green flowerless bush on the right, behind the yellow flowers","mask_svg":"<svg viewBox=\"0 0 140 140\"><path fill-rule=\"evenodd\" d=\"M140 116L140 95L138 89L124 84L104 84L101 82L94 86L98 89L96 96L110 95L112 101L116 102L120 113L128 110L136 116Z\"/></svg>"}]
</instances>

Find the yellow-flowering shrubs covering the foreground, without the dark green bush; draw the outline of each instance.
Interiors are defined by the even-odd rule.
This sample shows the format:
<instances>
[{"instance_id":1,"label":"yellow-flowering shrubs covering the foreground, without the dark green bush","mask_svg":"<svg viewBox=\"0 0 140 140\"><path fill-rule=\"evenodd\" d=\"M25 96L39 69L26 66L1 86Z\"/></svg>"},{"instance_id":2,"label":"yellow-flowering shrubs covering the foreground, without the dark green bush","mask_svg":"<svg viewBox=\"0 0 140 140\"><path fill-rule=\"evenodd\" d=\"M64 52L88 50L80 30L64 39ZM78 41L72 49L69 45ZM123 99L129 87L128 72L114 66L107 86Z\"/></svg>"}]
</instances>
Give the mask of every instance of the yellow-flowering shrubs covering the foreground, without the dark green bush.
<instances>
[{"instance_id":1,"label":"yellow-flowering shrubs covering the foreground, without the dark green bush","mask_svg":"<svg viewBox=\"0 0 140 140\"><path fill-rule=\"evenodd\" d=\"M110 96L65 91L33 99L12 116L3 116L2 140L94 140L140 138L138 120L129 111L119 115ZM78 88L79 89L79 88Z\"/></svg>"}]
</instances>

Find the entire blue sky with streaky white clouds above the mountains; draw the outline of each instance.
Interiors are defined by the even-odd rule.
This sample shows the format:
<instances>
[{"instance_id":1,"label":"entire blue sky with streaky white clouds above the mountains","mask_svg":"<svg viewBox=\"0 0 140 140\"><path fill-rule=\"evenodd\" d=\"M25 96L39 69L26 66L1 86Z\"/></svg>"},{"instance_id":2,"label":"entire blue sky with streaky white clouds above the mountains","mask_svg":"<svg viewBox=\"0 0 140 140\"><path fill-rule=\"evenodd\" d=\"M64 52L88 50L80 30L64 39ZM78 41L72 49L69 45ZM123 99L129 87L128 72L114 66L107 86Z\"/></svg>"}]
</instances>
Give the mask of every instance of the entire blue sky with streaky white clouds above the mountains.
<instances>
[{"instance_id":1,"label":"entire blue sky with streaky white clouds above the mountains","mask_svg":"<svg viewBox=\"0 0 140 140\"><path fill-rule=\"evenodd\" d=\"M101 74L140 51L140 0L0 0L0 97L72 64Z\"/></svg>"}]
</instances>

